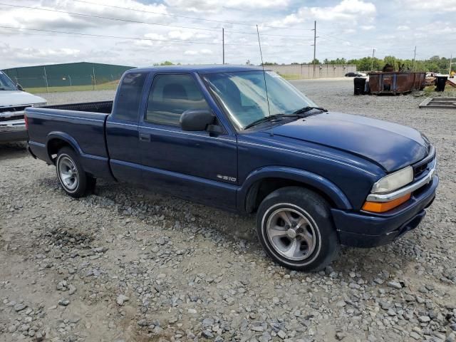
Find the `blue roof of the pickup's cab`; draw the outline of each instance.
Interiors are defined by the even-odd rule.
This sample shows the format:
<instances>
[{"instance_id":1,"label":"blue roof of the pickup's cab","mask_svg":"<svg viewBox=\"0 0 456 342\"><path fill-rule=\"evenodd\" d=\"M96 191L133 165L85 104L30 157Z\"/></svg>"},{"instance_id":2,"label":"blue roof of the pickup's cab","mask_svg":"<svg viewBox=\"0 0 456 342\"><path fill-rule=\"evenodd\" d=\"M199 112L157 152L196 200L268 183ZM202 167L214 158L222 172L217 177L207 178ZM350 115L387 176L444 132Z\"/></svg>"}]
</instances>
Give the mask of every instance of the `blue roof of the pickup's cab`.
<instances>
[{"instance_id":1,"label":"blue roof of the pickup's cab","mask_svg":"<svg viewBox=\"0 0 456 342\"><path fill-rule=\"evenodd\" d=\"M197 65L197 66L150 66L146 68L131 69L130 72L138 71L180 71L186 73L229 73L234 71L261 71L258 66L233 66L223 64Z\"/></svg>"}]
</instances>

